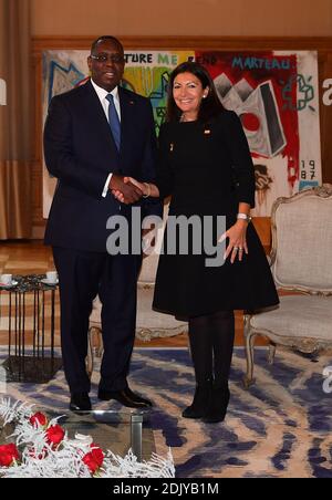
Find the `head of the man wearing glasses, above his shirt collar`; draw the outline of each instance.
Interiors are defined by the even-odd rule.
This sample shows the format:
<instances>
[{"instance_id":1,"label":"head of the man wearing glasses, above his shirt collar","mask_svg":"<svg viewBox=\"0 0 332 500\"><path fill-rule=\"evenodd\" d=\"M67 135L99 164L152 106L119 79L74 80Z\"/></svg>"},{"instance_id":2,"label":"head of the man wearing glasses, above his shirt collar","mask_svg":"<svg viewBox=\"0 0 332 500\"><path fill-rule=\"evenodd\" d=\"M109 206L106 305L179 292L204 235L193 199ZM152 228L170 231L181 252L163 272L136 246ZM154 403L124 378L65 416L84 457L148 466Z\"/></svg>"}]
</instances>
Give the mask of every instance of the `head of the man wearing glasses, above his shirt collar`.
<instances>
[{"instance_id":1,"label":"head of the man wearing glasses, above his shirt collar","mask_svg":"<svg viewBox=\"0 0 332 500\"><path fill-rule=\"evenodd\" d=\"M117 43L104 40L87 58L87 64L94 83L105 91L112 92L123 76L124 53Z\"/></svg>"}]
</instances>

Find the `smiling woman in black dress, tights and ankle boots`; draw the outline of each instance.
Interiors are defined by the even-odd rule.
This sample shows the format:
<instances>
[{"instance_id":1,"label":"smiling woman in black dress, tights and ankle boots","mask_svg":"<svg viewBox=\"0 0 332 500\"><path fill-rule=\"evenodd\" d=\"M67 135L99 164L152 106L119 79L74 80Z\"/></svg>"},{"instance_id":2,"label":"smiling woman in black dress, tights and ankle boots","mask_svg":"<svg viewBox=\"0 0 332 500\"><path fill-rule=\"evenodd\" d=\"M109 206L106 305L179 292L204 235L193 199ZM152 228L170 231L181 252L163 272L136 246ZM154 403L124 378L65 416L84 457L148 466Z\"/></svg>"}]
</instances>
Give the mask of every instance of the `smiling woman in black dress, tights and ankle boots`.
<instances>
[{"instance_id":1,"label":"smiling woman in black dress, tights and ankle boots","mask_svg":"<svg viewBox=\"0 0 332 500\"><path fill-rule=\"evenodd\" d=\"M241 122L226 111L208 72L195 62L175 69L169 80L166 123L159 134L155 184L127 178L144 196L172 196L169 216L209 216L217 228L226 217L225 263L206 265L207 254L165 251L159 258L154 309L187 317L196 376L186 418L222 421L235 340L235 310L279 303L268 261L250 223L255 207L253 165ZM115 194L124 201L120 192ZM204 222L203 222L204 223ZM167 223L167 227L169 221ZM214 243L221 235L215 231ZM164 249L173 238L165 231Z\"/></svg>"}]
</instances>

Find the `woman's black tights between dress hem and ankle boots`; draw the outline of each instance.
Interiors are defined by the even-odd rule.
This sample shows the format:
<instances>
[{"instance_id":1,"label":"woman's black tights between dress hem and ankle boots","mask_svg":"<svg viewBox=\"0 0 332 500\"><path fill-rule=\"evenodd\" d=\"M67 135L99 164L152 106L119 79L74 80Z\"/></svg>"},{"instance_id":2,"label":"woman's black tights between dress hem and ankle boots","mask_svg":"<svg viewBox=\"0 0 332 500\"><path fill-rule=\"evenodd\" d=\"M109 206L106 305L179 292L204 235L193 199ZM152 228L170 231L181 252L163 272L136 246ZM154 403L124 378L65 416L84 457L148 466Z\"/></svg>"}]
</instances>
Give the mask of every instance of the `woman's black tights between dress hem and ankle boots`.
<instances>
[{"instance_id":1,"label":"woman's black tights between dress hem and ankle boots","mask_svg":"<svg viewBox=\"0 0 332 500\"><path fill-rule=\"evenodd\" d=\"M209 379L214 379L216 385L227 384L234 341L234 311L189 319L190 351L198 385Z\"/></svg>"}]
</instances>

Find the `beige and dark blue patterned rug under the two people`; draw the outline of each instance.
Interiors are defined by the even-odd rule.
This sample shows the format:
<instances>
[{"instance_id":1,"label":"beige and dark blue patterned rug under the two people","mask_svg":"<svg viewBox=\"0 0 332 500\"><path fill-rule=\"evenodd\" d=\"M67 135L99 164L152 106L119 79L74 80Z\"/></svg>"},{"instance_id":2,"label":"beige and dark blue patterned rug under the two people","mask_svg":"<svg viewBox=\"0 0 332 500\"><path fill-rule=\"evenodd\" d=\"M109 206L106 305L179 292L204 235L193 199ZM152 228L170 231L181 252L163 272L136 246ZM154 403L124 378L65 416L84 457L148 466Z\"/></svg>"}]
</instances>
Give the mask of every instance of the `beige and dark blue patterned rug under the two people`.
<instances>
[{"instance_id":1,"label":"beige and dark blue patterned rug under the two people","mask_svg":"<svg viewBox=\"0 0 332 500\"><path fill-rule=\"evenodd\" d=\"M214 425L180 417L194 392L187 350L136 350L131 387L153 399L156 452L165 456L172 447L178 478L332 478L332 381L323 376L328 366L332 373L332 355L312 361L281 350L270 366L266 350L257 350L257 383L245 390L245 353L237 348L229 413L224 424ZM96 399L95 368L94 407L120 408ZM41 409L68 407L62 372L46 385L10 383L6 390Z\"/></svg>"}]
</instances>

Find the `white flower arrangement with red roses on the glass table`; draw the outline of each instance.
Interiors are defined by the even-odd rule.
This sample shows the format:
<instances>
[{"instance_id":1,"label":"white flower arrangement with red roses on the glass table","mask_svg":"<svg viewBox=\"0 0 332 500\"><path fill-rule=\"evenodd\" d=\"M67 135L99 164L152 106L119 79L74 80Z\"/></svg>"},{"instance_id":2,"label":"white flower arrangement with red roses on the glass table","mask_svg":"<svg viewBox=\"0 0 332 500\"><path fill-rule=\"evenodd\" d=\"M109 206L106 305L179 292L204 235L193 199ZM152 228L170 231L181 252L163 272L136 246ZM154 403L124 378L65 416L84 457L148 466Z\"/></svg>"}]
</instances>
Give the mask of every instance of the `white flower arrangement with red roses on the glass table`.
<instances>
[{"instance_id":1,"label":"white flower arrangement with red roses on the glass table","mask_svg":"<svg viewBox=\"0 0 332 500\"><path fill-rule=\"evenodd\" d=\"M59 418L46 420L33 414L32 406L9 398L0 399L2 427L13 424L9 439L15 444L0 446L1 478L174 478L170 450L166 458L153 454L139 462L132 450L122 458L93 444L91 436L68 437ZM22 449L20 452L19 449Z\"/></svg>"}]
</instances>

